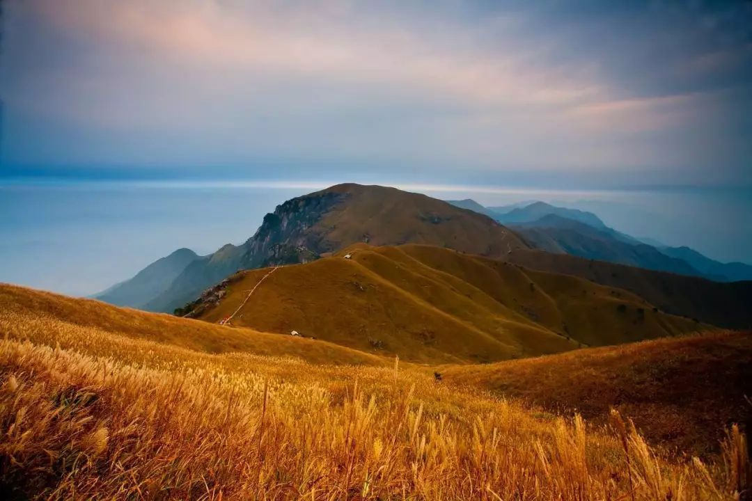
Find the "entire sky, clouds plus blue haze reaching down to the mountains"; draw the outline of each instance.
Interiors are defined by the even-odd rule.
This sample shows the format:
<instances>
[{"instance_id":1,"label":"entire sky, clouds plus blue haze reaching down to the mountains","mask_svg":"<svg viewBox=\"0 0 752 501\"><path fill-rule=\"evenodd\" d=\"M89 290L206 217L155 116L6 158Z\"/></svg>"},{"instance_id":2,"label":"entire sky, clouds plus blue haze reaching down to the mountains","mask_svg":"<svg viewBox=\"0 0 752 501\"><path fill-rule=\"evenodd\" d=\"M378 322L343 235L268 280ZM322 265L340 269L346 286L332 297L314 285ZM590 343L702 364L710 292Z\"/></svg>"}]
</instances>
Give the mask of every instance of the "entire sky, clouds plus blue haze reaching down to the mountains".
<instances>
[{"instance_id":1,"label":"entire sky, clouds plus blue haze reaching down to the mountains","mask_svg":"<svg viewBox=\"0 0 752 501\"><path fill-rule=\"evenodd\" d=\"M747 0L0 6L0 281L89 294L345 181L752 262Z\"/></svg>"}]
</instances>

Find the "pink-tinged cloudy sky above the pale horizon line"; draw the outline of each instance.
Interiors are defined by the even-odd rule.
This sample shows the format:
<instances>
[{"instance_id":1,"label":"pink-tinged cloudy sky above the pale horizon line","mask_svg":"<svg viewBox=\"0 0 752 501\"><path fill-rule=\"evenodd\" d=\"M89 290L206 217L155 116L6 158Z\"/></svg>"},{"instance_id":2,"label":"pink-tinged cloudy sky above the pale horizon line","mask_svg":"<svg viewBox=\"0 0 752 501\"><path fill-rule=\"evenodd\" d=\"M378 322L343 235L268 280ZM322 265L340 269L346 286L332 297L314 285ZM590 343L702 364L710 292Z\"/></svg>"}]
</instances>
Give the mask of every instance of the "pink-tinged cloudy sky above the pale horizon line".
<instances>
[{"instance_id":1,"label":"pink-tinged cloudy sky above the pale horizon line","mask_svg":"<svg viewBox=\"0 0 752 501\"><path fill-rule=\"evenodd\" d=\"M752 184L752 2L2 6L5 177Z\"/></svg>"}]
</instances>

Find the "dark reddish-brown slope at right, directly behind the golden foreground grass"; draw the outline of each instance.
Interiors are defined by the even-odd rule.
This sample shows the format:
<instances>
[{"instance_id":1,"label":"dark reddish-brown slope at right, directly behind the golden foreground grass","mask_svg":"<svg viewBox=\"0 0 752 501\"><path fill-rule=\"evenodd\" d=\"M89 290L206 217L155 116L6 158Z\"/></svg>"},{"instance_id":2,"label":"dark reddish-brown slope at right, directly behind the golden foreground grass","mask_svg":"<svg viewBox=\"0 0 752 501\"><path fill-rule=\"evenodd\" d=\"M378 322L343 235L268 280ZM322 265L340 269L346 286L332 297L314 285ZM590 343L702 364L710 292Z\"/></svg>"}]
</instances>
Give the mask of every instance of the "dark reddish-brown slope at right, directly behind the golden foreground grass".
<instances>
[{"instance_id":1,"label":"dark reddish-brown slope at right, directly behind the golden foreground grass","mask_svg":"<svg viewBox=\"0 0 752 501\"><path fill-rule=\"evenodd\" d=\"M472 367L444 379L521 397L553 412L607 421L611 406L653 442L692 454L717 450L732 423L752 427L752 333L718 332L582 349Z\"/></svg>"}]
</instances>

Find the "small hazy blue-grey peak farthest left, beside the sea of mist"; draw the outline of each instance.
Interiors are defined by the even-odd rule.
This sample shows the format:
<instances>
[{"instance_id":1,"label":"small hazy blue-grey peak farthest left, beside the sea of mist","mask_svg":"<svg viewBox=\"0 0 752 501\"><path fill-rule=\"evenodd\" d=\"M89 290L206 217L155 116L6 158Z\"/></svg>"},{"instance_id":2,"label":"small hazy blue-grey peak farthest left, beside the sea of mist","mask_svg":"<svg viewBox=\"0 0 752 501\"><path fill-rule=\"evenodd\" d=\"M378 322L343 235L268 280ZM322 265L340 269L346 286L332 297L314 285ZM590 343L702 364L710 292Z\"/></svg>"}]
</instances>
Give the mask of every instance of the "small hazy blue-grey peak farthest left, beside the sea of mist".
<instances>
[{"instance_id":1,"label":"small hazy blue-grey peak farthest left, beside the sea of mist","mask_svg":"<svg viewBox=\"0 0 752 501\"><path fill-rule=\"evenodd\" d=\"M113 285L94 297L117 306L143 308L150 300L162 294L186 266L197 259L199 255L196 252L177 249L171 255L154 261L132 279Z\"/></svg>"}]
</instances>

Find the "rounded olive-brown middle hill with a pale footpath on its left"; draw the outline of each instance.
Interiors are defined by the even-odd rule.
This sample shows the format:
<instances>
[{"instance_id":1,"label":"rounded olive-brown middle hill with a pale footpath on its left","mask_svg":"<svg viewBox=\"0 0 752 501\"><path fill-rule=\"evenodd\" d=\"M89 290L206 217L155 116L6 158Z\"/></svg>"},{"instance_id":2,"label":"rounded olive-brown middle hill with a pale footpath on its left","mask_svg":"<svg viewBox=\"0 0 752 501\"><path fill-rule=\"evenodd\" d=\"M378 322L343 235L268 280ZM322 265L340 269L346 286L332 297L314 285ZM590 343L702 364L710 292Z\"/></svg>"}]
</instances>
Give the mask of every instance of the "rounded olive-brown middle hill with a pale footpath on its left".
<instances>
[{"instance_id":1,"label":"rounded olive-brown middle hill with a pale footpath on its left","mask_svg":"<svg viewBox=\"0 0 752 501\"><path fill-rule=\"evenodd\" d=\"M218 322L242 304L233 325L297 330L425 363L522 358L699 328L626 291L433 246L360 244L280 267L244 303L268 271L242 272L199 318Z\"/></svg>"}]
</instances>

